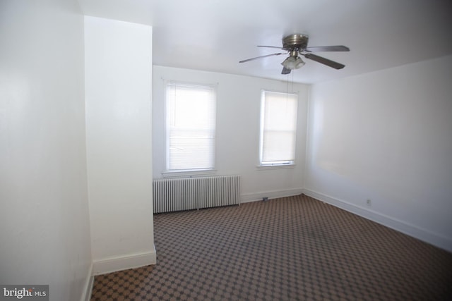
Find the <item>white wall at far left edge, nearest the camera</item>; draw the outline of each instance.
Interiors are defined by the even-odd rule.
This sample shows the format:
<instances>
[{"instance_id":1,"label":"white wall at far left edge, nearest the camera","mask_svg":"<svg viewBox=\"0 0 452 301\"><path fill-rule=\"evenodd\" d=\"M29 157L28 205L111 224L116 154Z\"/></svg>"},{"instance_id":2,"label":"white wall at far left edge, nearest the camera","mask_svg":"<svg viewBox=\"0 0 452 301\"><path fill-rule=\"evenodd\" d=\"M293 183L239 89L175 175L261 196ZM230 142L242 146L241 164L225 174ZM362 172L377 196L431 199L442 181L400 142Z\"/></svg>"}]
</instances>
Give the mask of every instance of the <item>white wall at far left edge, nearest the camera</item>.
<instances>
[{"instance_id":1,"label":"white wall at far left edge, nearest the camera","mask_svg":"<svg viewBox=\"0 0 452 301\"><path fill-rule=\"evenodd\" d=\"M0 283L81 300L91 267L78 2L0 2Z\"/></svg>"}]
</instances>

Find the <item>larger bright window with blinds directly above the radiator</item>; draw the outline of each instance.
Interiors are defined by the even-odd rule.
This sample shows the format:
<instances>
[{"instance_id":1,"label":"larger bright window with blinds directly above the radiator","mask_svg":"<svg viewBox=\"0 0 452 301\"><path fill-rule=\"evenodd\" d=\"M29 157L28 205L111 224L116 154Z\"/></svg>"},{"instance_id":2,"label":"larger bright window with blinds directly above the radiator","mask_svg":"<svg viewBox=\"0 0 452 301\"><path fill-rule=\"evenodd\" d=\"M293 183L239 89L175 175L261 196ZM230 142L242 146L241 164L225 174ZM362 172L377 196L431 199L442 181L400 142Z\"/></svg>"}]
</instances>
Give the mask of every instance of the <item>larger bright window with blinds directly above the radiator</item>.
<instances>
[{"instance_id":1,"label":"larger bright window with blinds directly above the radiator","mask_svg":"<svg viewBox=\"0 0 452 301\"><path fill-rule=\"evenodd\" d=\"M167 84L167 170L206 170L215 165L215 87Z\"/></svg>"}]
</instances>

